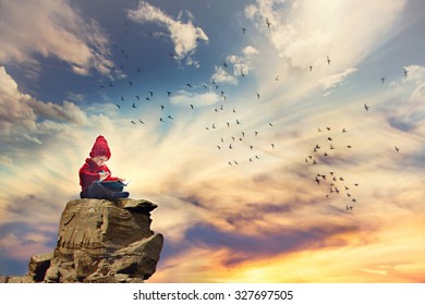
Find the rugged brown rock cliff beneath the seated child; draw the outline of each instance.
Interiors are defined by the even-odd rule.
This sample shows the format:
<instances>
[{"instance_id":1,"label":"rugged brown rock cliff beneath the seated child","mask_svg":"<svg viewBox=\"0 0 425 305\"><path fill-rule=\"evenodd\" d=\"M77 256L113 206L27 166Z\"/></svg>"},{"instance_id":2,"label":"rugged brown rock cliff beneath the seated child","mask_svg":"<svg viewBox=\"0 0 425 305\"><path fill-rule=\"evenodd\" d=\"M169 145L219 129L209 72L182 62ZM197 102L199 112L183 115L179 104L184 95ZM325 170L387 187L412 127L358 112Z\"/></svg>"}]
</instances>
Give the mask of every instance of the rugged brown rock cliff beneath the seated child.
<instances>
[{"instance_id":1,"label":"rugged brown rock cliff beneath the seated child","mask_svg":"<svg viewBox=\"0 0 425 305\"><path fill-rule=\"evenodd\" d=\"M1 282L143 282L156 271L163 237L150 230L147 200L68 203L52 253L31 258L28 273Z\"/></svg>"}]
</instances>

